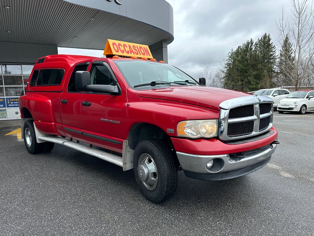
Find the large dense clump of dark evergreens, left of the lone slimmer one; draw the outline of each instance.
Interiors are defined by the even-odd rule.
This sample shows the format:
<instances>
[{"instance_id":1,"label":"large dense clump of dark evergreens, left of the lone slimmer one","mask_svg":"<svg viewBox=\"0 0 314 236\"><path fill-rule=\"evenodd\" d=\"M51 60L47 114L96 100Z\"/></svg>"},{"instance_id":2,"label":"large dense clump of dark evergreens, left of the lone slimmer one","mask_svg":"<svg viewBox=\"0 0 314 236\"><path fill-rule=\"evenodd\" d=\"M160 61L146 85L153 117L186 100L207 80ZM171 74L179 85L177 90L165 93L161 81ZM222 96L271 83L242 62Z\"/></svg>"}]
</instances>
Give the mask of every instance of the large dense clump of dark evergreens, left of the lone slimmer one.
<instances>
[{"instance_id":1,"label":"large dense clump of dark evergreens, left of the lone slimmer one","mask_svg":"<svg viewBox=\"0 0 314 236\"><path fill-rule=\"evenodd\" d=\"M273 87L276 49L269 34L248 40L228 53L224 71L224 87L253 91Z\"/></svg>"}]
</instances>

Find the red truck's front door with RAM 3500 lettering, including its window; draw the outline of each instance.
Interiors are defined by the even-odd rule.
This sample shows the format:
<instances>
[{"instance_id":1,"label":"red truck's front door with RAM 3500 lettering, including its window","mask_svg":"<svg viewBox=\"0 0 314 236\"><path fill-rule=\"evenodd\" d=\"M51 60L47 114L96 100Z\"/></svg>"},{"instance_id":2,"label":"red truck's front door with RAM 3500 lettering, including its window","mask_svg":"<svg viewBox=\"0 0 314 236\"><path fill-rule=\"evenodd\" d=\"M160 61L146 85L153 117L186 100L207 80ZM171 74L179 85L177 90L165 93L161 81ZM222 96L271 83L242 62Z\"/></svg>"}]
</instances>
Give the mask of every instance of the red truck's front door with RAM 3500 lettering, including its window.
<instances>
[{"instance_id":1,"label":"red truck's front door with RAM 3500 lettering, including its window","mask_svg":"<svg viewBox=\"0 0 314 236\"><path fill-rule=\"evenodd\" d=\"M106 62L95 62L90 68L94 85L118 85ZM110 150L122 150L122 107L125 97L106 93L82 94L82 129L87 143Z\"/></svg>"}]
</instances>

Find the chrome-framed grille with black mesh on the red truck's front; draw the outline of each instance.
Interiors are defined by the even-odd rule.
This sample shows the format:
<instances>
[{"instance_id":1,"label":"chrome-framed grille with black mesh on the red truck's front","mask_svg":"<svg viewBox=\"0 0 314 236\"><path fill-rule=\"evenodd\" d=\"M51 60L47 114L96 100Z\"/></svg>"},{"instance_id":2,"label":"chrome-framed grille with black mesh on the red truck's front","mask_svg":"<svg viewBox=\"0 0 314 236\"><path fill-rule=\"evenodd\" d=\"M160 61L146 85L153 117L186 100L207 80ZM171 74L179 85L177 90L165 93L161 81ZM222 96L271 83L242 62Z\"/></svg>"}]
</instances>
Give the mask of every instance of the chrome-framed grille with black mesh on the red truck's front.
<instances>
[{"instance_id":1,"label":"chrome-framed grille with black mesh on the red truck's front","mask_svg":"<svg viewBox=\"0 0 314 236\"><path fill-rule=\"evenodd\" d=\"M273 101L261 97L246 96L221 103L219 138L243 139L267 132L273 123Z\"/></svg>"}]
</instances>

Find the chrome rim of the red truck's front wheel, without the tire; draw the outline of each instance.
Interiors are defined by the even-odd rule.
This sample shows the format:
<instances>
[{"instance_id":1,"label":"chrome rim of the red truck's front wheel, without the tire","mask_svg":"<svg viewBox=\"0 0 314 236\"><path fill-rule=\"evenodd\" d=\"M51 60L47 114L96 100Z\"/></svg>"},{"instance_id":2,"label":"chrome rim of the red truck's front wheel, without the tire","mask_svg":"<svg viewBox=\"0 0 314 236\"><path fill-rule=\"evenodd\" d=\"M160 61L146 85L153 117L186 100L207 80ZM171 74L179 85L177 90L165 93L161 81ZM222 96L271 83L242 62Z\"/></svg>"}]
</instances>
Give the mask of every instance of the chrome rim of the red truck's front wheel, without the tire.
<instances>
[{"instance_id":1,"label":"chrome rim of the red truck's front wheel, without the tire","mask_svg":"<svg viewBox=\"0 0 314 236\"><path fill-rule=\"evenodd\" d=\"M153 158L143 153L138 159L137 173L139 180L148 190L154 190L158 183L158 172Z\"/></svg>"}]
</instances>

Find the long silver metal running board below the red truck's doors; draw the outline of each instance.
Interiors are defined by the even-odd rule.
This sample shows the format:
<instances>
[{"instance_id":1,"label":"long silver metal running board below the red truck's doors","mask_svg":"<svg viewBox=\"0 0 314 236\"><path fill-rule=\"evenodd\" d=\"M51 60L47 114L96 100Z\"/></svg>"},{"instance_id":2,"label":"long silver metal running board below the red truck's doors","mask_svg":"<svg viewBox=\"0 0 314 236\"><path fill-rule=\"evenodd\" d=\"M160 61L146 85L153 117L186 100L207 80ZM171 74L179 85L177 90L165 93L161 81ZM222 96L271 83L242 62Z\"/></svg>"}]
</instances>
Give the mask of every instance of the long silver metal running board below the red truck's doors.
<instances>
[{"instance_id":1,"label":"long silver metal running board below the red truck's doors","mask_svg":"<svg viewBox=\"0 0 314 236\"><path fill-rule=\"evenodd\" d=\"M101 150L98 150L95 148L91 148L91 147L82 145L80 143L74 143L73 141L70 141L70 140L65 139L65 138L61 138L61 137L53 136L53 135L48 135L48 136L39 136L39 137L37 137L37 139L40 139L40 140L45 141L45 142L62 144L64 146L67 146L69 148L73 148L73 149L78 150L80 152L98 157L102 160L105 160L105 161L108 161L108 162L115 164L117 166L123 167L123 171L130 170L133 168L133 165L132 165L132 168L130 168L131 165L127 165L127 163L125 163L125 165L123 166L123 159L120 156L113 155L111 153L107 153L107 152L104 152L104 151L101 151ZM127 141L127 140L125 140L125 141ZM125 144L125 143L123 142L123 144ZM124 146L125 145L123 145L123 147ZM132 162L131 162L131 164L132 164Z\"/></svg>"}]
</instances>

